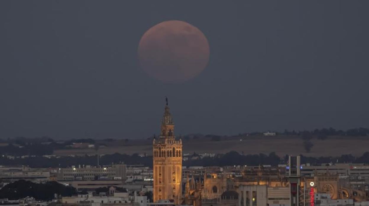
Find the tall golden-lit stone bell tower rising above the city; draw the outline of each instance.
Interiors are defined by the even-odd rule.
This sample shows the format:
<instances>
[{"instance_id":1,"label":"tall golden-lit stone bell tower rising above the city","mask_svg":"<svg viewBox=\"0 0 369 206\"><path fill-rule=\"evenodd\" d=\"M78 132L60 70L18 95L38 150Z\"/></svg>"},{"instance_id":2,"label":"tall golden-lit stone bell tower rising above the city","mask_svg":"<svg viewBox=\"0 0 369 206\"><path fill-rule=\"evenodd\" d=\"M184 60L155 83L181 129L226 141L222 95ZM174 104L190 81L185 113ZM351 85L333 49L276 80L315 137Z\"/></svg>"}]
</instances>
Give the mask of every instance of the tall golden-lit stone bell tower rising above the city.
<instances>
[{"instance_id":1,"label":"tall golden-lit stone bell tower rising above the city","mask_svg":"<svg viewBox=\"0 0 369 206\"><path fill-rule=\"evenodd\" d=\"M159 139L152 144L154 159L154 202L161 199L182 202L182 140L174 136L174 123L169 112L168 99L161 122Z\"/></svg>"}]
</instances>

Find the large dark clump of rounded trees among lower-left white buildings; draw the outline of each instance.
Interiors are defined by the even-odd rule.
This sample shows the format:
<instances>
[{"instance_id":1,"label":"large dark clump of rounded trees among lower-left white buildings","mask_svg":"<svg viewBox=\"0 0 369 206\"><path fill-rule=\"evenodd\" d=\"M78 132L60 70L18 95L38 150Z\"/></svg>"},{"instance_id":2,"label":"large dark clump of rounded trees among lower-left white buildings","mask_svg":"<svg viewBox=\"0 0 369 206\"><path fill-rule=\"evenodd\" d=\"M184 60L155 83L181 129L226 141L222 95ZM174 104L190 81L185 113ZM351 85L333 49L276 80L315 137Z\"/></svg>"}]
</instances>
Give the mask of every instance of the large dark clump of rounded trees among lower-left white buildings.
<instances>
[{"instance_id":1,"label":"large dark clump of rounded trees among lower-left white buildings","mask_svg":"<svg viewBox=\"0 0 369 206\"><path fill-rule=\"evenodd\" d=\"M54 195L72 196L77 194L76 188L65 186L58 182L37 184L31 181L18 180L0 189L0 199L18 200L27 196L36 200L52 200Z\"/></svg>"}]
</instances>

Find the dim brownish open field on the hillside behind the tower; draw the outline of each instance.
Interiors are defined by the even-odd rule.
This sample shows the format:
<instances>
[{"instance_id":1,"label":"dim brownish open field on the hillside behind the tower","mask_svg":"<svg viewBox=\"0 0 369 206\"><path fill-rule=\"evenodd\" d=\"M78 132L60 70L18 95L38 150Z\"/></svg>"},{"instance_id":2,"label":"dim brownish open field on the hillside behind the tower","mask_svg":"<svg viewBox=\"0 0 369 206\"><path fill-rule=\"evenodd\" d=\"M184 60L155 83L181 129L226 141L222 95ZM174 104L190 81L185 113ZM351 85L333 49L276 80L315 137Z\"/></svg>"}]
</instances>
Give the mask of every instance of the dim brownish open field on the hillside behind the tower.
<instances>
[{"instance_id":1,"label":"dim brownish open field on the hillside behind the tower","mask_svg":"<svg viewBox=\"0 0 369 206\"><path fill-rule=\"evenodd\" d=\"M114 142L104 142L107 146L99 149L100 154L152 154L151 140L115 140ZM306 153L303 147L301 137L265 137L252 136L240 139L227 139L218 142L211 141L208 138L191 139L183 141L183 153L227 153L229 151L238 151L244 154L259 154L276 152L279 156L286 154L303 154L304 156L341 156L342 154L352 154L361 156L369 151L369 137L328 137L325 140L312 139L314 144L310 153ZM93 149L68 149L56 150L54 154L65 156L96 154Z\"/></svg>"}]
</instances>

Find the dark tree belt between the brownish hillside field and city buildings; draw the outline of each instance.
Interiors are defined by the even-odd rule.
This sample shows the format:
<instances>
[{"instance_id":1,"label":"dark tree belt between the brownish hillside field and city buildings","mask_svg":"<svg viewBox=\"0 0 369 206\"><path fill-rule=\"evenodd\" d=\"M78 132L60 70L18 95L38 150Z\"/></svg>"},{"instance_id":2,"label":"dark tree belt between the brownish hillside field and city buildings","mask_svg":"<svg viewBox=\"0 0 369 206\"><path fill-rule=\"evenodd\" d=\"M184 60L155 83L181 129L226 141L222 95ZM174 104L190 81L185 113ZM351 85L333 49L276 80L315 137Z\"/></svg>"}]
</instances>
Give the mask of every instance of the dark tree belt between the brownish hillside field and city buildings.
<instances>
[{"instance_id":1,"label":"dark tree belt between the brownish hillside field and city buildings","mask_svg":"<svg viewBox=\"0 0 369 206\"><path fill-rule=\"evenodd\" d=\"M199 156L194 153L192 156ZM232 165L278 165L286 164L286 157L279 157L274 152L270 154L240 154L236 151L230 151L226 154L218 154L215 157L191 158L183 161L183 166L232 166ZM360 157L354 157L350 154L345 154L340 157L306 157L301 156L303 164L310 163L324 164L324 163L366 163L369 164L369 152L364 153ZM142 164L147 167L152 167L152 156L141 157L138 154L108 154L100 157L100 165L110 164ZM14 160L6 157L0 157L0 165L28 165L35 168L58 168L70 167L72 165L97 165L97 156L76 156L76 157L60 157L60 158L46 158L46 157L29 157L29 158L15 158Z\"/></svg>"}]
</instances>

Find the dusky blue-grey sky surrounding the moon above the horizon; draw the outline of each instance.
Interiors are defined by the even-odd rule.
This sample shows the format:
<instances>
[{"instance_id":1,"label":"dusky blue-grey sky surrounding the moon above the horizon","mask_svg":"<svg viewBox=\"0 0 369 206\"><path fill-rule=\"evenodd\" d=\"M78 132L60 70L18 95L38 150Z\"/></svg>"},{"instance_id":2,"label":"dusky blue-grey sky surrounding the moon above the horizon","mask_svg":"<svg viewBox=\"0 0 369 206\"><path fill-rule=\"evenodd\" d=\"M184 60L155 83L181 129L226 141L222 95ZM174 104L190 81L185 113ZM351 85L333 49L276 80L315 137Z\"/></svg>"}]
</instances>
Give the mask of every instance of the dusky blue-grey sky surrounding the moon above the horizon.
<instances>
[{"instance_id":1,"label":"dusky blue-grey sky surrounding the moon above the horizon","mask_svg":"<svg viewBox=\"0 0 369 206\"><path fill-rule=\"evenodd\" d=\"M218 2L218 3L217 3ZM148 137L369 126L369 1L0 1L0 138ZM167 84L137 60L182 20L210 62Z\"/></svg>"}]
</instances>

